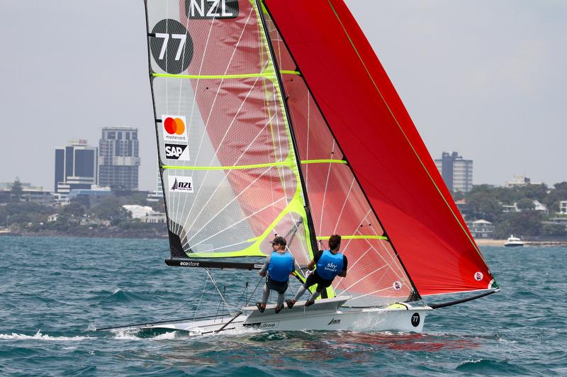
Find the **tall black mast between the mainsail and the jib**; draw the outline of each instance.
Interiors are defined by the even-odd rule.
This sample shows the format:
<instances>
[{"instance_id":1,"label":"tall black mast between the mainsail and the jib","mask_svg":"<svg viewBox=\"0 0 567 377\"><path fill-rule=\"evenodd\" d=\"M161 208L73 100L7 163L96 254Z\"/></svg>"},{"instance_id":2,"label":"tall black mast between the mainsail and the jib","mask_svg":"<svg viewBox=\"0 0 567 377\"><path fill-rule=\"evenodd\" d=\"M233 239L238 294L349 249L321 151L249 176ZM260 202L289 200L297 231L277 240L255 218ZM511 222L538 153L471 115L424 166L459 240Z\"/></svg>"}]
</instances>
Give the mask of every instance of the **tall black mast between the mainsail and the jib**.
<instances>
[{"instance_id":1,"label":"tall black mast between the mainsail and the jib","mask_svg":"<svg viewBox=\"0 0 567 377\"><path fill-rule=\"evenodd\" d=\"M269 47L269 55L270 55L270 59L274 64L274 69L276 70L276 79L278 82L278 89L281 93L281 96L283 97L283 109L284 109L284 116L286 117L286 120L288 122L289 125L289 132L291 134L291 142L292 142L292 147L293 147L293 154L295 154L296 156L296 164L297 164L297 169L299 171L299 181L301 182L301 191L303 192L303 201L305 203L305 215L307 216L307 226L309 229L309 240L310 240L310 246L311 246L311 257L313 257L313 255L315 254L315 250L318 250L318 245L317 245L317 238L315 235L315 226L313 225L313 217L311 216L311 210L310 210L310 206L309 206L309 196L307 193L307 187L305 186L305 180L303 179L303 171L301 168L301 159L299 157L299 151L298 151L298 147L297 147L297 142L296 142L296 136L295 133L293 132L293 123L291 121L291 116L289 116L290 112L289 112L289 108L288 108L288 96L286 96L286 91L285 89L283 89L283 84L281 83L281 76L279 74L279 64L278 61L276 60L276 55L274 54L274 46L271 45L271 40L269 38L269 31L266 28L266 19L264 18L264 12L262 11L262 4L260 3L259 0L254 0L256 1L256 7L257 7L257 11L259 13L259 20L260 23L262 23L262 30L264 30L264 38L266 38L266 42L268 44ZM267 11L267 8L266 8Z\"/></svg>"}]
</instances>

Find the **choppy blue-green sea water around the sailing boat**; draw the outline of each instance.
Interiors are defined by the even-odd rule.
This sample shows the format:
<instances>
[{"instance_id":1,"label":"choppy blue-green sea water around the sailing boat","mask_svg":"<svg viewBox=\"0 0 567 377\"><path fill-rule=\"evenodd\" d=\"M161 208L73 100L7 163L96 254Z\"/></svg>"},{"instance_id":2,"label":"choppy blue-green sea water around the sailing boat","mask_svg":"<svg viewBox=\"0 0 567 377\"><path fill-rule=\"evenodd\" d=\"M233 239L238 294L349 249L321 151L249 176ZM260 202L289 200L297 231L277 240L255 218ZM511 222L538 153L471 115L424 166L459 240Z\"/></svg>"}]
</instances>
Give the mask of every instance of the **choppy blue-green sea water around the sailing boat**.
<instances>
[{"instance_id":1,"label":"choppy blue-green sea water around the sailing boat","mask_svg":"<svg viewBox=\"0 0 567 377\"><path fill-rule=\"evenodd\" d=\"M1 237L0 375L567 375L567 249L482 251L502 291L434 310L423 334L189 337L95 331L226 313L205 271L164 264L166 240ZM259 281L256 271L213 273L230 305Z\"/></svg>"}]
</instances>

